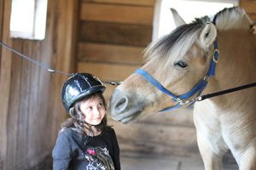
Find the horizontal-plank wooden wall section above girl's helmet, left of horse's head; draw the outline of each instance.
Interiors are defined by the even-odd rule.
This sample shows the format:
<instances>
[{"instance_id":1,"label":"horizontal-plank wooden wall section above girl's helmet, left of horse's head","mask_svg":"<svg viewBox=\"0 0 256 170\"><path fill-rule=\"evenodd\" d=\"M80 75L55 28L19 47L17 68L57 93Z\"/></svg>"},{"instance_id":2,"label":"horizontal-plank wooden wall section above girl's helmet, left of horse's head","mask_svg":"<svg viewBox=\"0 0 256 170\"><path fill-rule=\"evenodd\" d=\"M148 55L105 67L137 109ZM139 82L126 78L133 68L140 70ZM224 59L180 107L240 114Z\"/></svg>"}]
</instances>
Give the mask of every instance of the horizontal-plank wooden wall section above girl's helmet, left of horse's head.
<instances>
[{"instance_id":1,"label":"horizontal-plank wooden wall section above girl's helmet, left of horse's head","mask_svg":"<svg viewBox=\"0 0 256 170\"><path fill-rule=\"evenodd\" d=\"M119 82L142 64L151 42L154 0L82 0L78 71ZM113 88L108 85L108 99Z\"/></svg>"}]
</instances>

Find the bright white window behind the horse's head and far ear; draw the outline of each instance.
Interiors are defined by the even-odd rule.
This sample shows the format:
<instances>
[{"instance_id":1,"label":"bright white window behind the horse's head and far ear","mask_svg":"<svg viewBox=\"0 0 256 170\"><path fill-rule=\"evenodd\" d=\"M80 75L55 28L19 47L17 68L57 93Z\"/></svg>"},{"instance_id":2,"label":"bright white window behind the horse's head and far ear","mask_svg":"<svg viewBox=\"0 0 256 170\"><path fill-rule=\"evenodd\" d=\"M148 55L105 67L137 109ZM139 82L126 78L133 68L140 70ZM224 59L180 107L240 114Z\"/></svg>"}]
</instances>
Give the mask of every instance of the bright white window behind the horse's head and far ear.
<instances>
[{"instance_id":1,"label":"bright white window behind the horse's head and far ear","mask_svg":"<svg viewBox=\"0 0 256 170\"><path fill-rule=\"evenodd\" d=\"M237 5L238 0L159 0L155 12L157 15L154 19L158 23L154 25L153 39L166 35L175 29L170 8L175 8L177 13L183 17L183 20L189 23L195 18L205 15L211 17L223 8Z\"/></svg>"}]
</instances>

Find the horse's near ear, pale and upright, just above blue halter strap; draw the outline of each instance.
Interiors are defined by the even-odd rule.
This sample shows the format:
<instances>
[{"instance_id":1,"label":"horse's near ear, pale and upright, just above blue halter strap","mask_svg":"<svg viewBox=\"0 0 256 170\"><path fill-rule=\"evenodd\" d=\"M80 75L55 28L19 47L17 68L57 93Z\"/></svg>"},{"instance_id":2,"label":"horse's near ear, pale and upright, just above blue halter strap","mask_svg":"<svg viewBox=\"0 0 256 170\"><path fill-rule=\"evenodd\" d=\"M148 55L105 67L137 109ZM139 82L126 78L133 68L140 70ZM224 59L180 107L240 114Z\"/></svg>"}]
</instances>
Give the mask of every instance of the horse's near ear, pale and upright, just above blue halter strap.
<instances>
[{"instance_id":1,"label":"horse's near ear, pale and upright, just above blue halter strap","mask_svg":"<svg viewBox=\"0 0 256 170\"><path fill-rule=\"evenodd\" d=\"M216 27L212 23L207 23L207 26L201 31L199 41L202 48L209 48L217 37Z\"/></svg>"}]
</instances>

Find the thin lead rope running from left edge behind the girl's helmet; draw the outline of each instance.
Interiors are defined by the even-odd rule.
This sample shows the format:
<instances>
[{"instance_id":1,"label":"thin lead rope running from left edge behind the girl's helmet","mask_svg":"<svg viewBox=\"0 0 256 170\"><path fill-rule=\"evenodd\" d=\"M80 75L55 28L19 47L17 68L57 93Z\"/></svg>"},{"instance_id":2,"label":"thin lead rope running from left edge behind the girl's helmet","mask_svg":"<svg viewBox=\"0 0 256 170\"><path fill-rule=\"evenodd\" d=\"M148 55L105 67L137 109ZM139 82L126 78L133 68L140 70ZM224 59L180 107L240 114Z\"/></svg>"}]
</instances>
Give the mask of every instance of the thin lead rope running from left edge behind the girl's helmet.
<instances>
[{"instance_id":1,"label":"thin lead rope running from left edge behind the girl's helmet","mask_svg":"<svg viewBox=\"0 0 256 170\"><path fill-rule=\"evenodd\" d=\"M27 55L25 54L21 54L20 52L16 51L14 48L11 48L9 47L9 45L7 45L6 43L0 41L0 44L4 47L4 48L7 48L9 49L9 51L15 53L15 54L18 54L19 56L21 56L22 58L24 59L27 59L29 60L30 62L32 62L33 64L35 65L38 65L39 67L41 68L44 68L45 70L49 71L50 73L59 73L59 74L62 74L62 75L66 75L66 76L71 76L73 75L72 73L67 73L67 72L64 72L64 71L58 71L58 70L55 70L55 69L52 69L50 68L48 65L44 65L43 63L40 63L39 61L35 60L35 59L32 59L31 57L28 57ZM113 86L117 86L119 85L121 82L103 82L103 83L108 83L108 84L111 84Z\"/></svg>"}]
</instances>

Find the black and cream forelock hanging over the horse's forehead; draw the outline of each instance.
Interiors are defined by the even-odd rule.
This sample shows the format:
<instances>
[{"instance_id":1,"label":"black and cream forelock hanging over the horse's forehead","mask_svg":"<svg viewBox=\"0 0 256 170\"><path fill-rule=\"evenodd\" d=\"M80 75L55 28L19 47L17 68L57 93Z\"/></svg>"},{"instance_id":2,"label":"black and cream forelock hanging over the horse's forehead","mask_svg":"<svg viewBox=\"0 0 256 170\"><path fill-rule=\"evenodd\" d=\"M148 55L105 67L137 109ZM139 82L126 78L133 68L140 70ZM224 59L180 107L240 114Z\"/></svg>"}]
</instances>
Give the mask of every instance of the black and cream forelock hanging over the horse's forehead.
<instances>
[{"instance_id":1,"label":"black and cream forelock hanging over the horse's forehead","mask_svg":"<svg viewBox=\"0 0 256 170\"><path fill-rule=\"evenodd\" d=\"M144 59L161 59L164 64L169 65L170 62L183 56L189 48L194 44L202 28L204 28L210 19L202 17L195 19L192 23L177 27L169 35L161 37L160 40L152 42L145 50ZM172 56L170 58L169 56ZM168 59L166 59L168 57ZM163 65L164 66L164 65Z\"/></svg>"}]
</instances>

